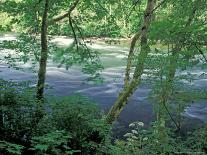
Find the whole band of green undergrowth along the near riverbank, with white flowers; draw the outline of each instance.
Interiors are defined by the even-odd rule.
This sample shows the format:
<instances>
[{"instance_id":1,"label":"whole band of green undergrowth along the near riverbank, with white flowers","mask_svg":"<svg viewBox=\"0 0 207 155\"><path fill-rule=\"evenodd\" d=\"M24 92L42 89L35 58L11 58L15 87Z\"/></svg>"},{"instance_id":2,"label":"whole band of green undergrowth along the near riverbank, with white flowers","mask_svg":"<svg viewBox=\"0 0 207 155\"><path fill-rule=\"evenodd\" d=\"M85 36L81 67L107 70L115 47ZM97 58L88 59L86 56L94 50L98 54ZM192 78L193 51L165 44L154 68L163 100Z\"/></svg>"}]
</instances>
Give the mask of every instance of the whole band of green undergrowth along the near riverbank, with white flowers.
<instances>
[{"instance_id":1,"label":"whole band of green undergrowth along the near riverbank, with white flowers","mask_svg":"<svg viewBox=\"0 0 207 155\"><path fill-rule=\"evenodd\" d=\"M37 106L28 84L1 80L0 153L206 153L205 127L181 138L167 127L160 128L159 122L149 128L145 128L142 122L131 123L131 131L124 135L125 141L116 140L112 145L110 127L88 98L80 95L64 99L49 98L41 108Z\"/></svg>"}]
</instances>

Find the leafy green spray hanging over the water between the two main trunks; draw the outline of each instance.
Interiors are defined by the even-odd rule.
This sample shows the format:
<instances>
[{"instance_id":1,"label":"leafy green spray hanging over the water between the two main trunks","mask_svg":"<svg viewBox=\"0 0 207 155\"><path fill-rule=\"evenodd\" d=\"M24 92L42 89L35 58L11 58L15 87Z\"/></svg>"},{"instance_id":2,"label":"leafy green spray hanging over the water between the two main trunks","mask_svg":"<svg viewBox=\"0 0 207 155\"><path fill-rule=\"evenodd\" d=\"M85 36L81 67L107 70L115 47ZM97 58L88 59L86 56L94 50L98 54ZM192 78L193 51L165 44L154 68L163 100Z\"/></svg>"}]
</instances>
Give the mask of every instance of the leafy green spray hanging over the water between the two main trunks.
<instances>
[{"instance_id":1,"label":"leafy green spray hanging over the water between the two main trunks","mask_svg":"<svg viewBox=\"0 0 207 155\"><path fill-rule=\"evenodd\" d=\"M78 47L77 47L78 46ZM103 78L100 72L103 70L99 59L99 53L87 47L84 41L80 41L78 45L73 42L68 47L58 48L53 50L53 61L58 63L58 67L65 66L68 70L71 66L82 66L82 72L89 75L87 81L94 81L96 83L102 82Z\"/></svg>"}]
</instances>

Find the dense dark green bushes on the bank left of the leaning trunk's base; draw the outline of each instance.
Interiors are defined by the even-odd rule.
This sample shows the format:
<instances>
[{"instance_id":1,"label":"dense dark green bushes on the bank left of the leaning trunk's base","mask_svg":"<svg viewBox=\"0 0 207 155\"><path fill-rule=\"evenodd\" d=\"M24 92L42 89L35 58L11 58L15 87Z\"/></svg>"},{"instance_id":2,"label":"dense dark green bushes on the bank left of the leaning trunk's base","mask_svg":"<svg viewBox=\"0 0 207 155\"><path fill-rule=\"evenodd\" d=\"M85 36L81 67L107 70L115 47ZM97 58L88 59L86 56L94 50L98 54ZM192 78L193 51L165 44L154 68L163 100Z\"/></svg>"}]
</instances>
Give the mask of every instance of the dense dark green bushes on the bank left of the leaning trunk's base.
<instances>
[{"instance_id":1,"label":"dense dark green bushes on the bank left of the leaning trunk's base","mask_svg":"<svg viewBox=\"0 0 207 155\"><path fill-rule=\"evenodd\" d=\"M1 80L0 90L3 152L104 154L111 145L110 126L86 97L48 98L40 104L28 83Z\"/></svg>"}]
</instances>

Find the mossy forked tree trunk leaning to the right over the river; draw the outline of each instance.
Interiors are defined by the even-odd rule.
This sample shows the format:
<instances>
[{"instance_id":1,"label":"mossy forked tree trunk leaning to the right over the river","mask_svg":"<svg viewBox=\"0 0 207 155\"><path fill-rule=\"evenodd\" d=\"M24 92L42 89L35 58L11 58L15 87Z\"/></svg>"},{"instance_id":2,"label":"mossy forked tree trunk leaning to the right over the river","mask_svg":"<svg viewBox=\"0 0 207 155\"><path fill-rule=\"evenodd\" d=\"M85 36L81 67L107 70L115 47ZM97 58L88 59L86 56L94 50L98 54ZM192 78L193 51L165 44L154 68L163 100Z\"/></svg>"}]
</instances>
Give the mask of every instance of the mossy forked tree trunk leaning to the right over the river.
<instances>
[{"instance_id":1,"label":"mossy forked tree trunk leaning to the right over the river","mask_svg":"<svg viewBox=\"0 0 207 155\"><path fill-rule=\"evenodd\" d=\"M129 62L127 65L127 69L126 69L127 73L126 73L126 78L125 78L125 88L120 93L118 99L115 101L114 105L112 106L112 108L110 109L110 111L107 115L107 122L110 124L117 119L117 117L121 113L122 109L127 104L128 98L131 97L131 95L134 93L134 91L136 90L137 86L140 83L141 75L144 70L144 63L145 63L147 55L150 51L150 48L149 48L148 42L147 42L147 31L148 31L150 23L151 23L154 5L155 5L155 0L148 0L147 1L147 7L146 7L146 10L144 13L144 22L143 22L142 28L141 28L140 32L138 32L135 35L135 37L133 38L133 40L131 42L131 48L130 48L130 53L128 56L128 61L131 61L135 44L136 44L137 40L139 39L139 36L141 37L141 50L140 50L140 54L138 57L138 62L137 62L137 65L136 65L136 68L134 71L133 78L130 83L129 83L129 78L128 78L128 76L129 76L128 70L130 70L131 62Z\"/></svg>"}]
</instances>

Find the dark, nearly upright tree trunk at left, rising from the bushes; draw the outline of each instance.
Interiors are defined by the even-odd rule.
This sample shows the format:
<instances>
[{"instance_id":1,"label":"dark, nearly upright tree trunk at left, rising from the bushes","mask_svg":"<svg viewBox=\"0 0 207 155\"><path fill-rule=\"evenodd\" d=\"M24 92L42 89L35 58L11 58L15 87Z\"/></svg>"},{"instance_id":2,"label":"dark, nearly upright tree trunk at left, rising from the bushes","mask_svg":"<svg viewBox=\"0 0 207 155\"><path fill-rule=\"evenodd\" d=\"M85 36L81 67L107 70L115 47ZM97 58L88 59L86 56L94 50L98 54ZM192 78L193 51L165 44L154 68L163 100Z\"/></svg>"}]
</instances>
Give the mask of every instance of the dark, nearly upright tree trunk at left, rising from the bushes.
<instances>
[{"instance_id":1,"label":"dark, nearly upright tree trunk at left, rising from the bushes","mask_svg":"<svg viewBox=\"0 0 207 155\"><path fill-rule=\"evenodd\" d=\"M37 83L37 99L43 99L44 85L45 85L45 74L47 66L48 56L48 44L47 44L47 17L48 17L48 3L49 0L45 0L44 13L42 16L42 27L41 27L41 57L39 62L38 72L38 83Z\"/></svg>"}]
</instances>

